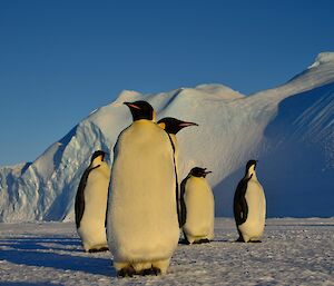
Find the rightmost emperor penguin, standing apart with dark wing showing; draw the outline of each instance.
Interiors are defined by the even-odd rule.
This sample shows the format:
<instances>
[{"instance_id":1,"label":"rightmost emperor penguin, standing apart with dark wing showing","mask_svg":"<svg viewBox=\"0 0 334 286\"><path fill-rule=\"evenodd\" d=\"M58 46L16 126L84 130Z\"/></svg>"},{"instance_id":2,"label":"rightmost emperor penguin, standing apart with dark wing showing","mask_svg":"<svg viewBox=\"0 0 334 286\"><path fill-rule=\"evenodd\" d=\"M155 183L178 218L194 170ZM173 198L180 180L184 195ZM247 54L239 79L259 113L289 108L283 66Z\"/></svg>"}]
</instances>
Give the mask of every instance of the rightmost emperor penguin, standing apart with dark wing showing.
<instances>
[{"instance_id":1,"label":"rightmost emperor penguin, standing apart with dark wing showing","mask_svg":"<svg viewBox=\"0 0 334 286\"><path fill-rule=\"evenodd\" d=\"M246 165L244 178L234 195L234 217L239 234L237 241L261 243L266 219L266 198L256 177L256 160Z\"/></svg>"}]
</instances>

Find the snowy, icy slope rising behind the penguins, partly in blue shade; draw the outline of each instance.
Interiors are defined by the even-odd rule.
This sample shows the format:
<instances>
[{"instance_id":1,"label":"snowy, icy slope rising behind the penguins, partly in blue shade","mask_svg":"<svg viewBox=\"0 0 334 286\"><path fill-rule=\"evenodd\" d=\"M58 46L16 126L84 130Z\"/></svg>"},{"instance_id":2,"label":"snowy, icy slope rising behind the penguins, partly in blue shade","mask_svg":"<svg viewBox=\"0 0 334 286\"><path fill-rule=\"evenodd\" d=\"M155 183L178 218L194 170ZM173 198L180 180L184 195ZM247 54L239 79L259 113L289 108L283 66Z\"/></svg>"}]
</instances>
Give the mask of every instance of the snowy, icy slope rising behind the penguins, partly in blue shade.
<instances>
[{"instance_id":1,"label":"snowy, icy slope rising behind the penguins, partly in blue shade","mask_svg":"<svg viewBox=\"0 0 334 286\"><path fill-rule=\"evenodd\" d=\"M287 83L244 97L222 85L169 92L124 91L91 112L37 160L0 168L0 221L73 220L77 186L94 150L110 152L131 122L124 101L145 99L158 119L197 122L179 135L180 180L194 166L213 170L216 215L232 216L235 187L248 159L268 216L334 215L334 52Z\"/></svg>"}]
</instances>

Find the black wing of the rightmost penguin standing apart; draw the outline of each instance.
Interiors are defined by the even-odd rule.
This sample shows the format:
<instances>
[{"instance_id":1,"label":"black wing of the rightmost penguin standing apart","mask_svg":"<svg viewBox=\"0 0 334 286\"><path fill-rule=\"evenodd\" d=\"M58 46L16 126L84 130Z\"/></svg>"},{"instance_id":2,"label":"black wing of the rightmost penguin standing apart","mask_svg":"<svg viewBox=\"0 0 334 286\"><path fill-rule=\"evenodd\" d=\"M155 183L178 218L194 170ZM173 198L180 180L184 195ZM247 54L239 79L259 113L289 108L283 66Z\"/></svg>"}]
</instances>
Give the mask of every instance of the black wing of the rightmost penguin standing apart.
<instances>
[{"instance_id":1,"label":"black wing of the rightmost penguin standing apart","mask_svg":"<svg viewBox=\"0 0 334 286\"><path fill-rule=\"evenodd\" d=\"M245 198L247 184L250 178L244 178L239 181L234 195L234 217L237 225L242 225L247 220L248 205Z\"/></svg>"}]
</instances>

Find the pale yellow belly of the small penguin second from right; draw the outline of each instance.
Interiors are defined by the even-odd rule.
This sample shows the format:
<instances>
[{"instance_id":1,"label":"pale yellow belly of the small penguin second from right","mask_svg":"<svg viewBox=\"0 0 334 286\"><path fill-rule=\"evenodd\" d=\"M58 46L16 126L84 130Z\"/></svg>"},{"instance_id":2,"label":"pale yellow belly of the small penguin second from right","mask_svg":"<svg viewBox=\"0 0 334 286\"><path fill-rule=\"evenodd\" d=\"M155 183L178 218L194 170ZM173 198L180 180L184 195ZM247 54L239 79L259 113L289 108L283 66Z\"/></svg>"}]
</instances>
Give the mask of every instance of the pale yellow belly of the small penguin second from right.
<instances>
[{"instance_id":1,"label":"pale yellow belly of the small penguin second from right","mask_svg":"<svg viewBox=\"0 0 334 286\"><path fill-rule=\"evenodd\" d=\"M213 191L204 178L191 177L185 186L187 218L184 231L188 240L214 238L215 203ZM190 241L193 243L193 241Z\"/></svg>"}]
</instances>

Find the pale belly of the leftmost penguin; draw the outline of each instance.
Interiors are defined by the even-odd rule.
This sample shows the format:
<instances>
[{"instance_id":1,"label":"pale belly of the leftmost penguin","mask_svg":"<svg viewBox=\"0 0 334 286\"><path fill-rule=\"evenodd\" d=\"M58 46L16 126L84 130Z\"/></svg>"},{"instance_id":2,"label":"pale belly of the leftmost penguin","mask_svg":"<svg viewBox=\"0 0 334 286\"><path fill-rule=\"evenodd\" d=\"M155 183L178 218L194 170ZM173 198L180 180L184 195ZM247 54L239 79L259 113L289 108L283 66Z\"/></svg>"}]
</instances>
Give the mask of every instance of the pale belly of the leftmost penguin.
<instances>
[{"instance_id":1,"label":"pale belly of the leftmost penguin","mask_svg":"<svg viewBox=\"0 0 334 286\"><path fill-rule=\"evenodd\" d=\"M107 247L105 218L110 168L106 162L94 169L88 177L85 188L85 211L78 234L85 250Z\"/></svg>"}]
</instances>

